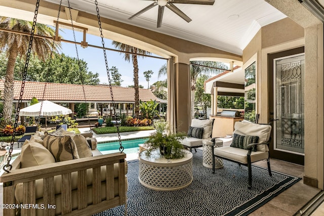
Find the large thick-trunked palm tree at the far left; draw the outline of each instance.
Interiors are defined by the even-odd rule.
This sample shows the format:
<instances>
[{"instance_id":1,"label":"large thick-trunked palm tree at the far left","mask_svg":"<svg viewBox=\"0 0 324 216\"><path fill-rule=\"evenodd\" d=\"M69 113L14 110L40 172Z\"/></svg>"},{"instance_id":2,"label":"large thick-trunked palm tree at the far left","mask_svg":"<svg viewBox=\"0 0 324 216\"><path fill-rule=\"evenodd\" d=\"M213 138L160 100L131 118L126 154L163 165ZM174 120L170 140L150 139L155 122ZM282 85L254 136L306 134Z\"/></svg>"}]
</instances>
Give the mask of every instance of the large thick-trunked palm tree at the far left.
<instances>
[{"instance_id":1,"label":"large thick-trunked palm tree at the far left","mask_svg":"<svg viewBox=\"0 0 324 216\"><path fill-rule=\"evenodd\" d=\"M19 20L9 17L0 17L0 28L31 32L32 22ZM44 24L36 24L35 34L53 37L55 30ZM11 116L13 112L13 87L14 87L14 68L16 58L26 58L26 53L29 46L30 36L0 31L0 51L6 52L8 56L7 70L5 76L4 90L4 121L3 124L11 124ZM45 38L33 38L31 51L34 55L42 58L43 61L49 57L52 48L53 40ZM60 44L55 44L55 51L60 47Z\"/></svg>"}]
</instances>

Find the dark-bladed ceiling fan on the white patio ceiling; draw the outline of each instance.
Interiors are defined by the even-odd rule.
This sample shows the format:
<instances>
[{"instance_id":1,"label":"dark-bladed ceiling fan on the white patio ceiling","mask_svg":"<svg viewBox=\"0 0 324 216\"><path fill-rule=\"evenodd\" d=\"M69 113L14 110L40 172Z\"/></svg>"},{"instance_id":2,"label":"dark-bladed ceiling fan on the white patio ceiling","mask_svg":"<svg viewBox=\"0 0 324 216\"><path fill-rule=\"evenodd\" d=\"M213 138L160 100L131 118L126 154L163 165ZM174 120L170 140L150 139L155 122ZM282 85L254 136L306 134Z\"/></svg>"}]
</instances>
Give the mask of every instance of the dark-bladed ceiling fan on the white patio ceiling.
<instances>
[{"instance_id":1,"label":"dark-bladed ceiling fan on the white patio ceiling","mask_svg":"<svg viewBox=\"0 0 324 216\"><path fill-rule=\"evenodd\" d=\"M214 5L215 1L213 0L144 0L144 1L152 1L153 3L146 8L140 10L130 18L129 20L134 19L135 17L143 14L144 12L150 10L151 8L154 8L158 5L158 14L157 14L157 28L161 27L162 25L162 18L163 18L163 12L164 7L169 8L171 11L176 13L179 17L184 19L187 22L190 22L191 19L185 15L182 11L180 11L179 8L177 8L174 4L195 4L195 5Z\"/></svg>"}]
</instances>

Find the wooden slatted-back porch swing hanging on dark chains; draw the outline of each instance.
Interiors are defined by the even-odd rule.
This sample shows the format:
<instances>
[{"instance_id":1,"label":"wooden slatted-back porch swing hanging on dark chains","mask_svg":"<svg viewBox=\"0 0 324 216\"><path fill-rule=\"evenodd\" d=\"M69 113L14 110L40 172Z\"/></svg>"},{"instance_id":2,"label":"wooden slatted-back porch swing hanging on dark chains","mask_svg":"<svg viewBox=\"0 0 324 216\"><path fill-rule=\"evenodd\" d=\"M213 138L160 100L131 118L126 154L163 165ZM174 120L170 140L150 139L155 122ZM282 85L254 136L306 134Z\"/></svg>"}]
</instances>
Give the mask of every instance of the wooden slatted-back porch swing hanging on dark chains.
<instances>
[{"instance_id":1,"label":"wooden slatted-back porch swing hanging on dark chains","mask_svg":"<svg viewBox=\"0 0 324 216\"><path fill-rule=\"evenodd\" d=\"M95 4L110 83L97 1ZM14 128L18 123L38 7L39 0L36 3ZM56 31L58 31L57 25ZM111 85L110 91L112 96ZM112 105L114 107L113 98ZM124 147L121 146L118 125L116 126L120 144L118 153L79 159L73 157L73 159L65 161L55 158L51 163L44 163L47 158L38 158L38 161L42 161L42 165L29 167L24 165L26 161L24 161L23 153L10 164L16 135L16 131L14 131L8 161L4 166L6 172L0 178L0 182L3 183L3 203L6 206L3 215L19 213L21 215L92 215L118 205L125 205L126 211L127 162L125 162L126 154L123 153ZM63 138L65 137L63 136ZM57 137L57 139L63 138ZM23 146L23 148L25 147ZM31 147L30 149L32 151ZM41 150L37 150L37 152L39 151ZM30 160L31 157L27 162L31 162Z\"/></svg>"}]
</instances>

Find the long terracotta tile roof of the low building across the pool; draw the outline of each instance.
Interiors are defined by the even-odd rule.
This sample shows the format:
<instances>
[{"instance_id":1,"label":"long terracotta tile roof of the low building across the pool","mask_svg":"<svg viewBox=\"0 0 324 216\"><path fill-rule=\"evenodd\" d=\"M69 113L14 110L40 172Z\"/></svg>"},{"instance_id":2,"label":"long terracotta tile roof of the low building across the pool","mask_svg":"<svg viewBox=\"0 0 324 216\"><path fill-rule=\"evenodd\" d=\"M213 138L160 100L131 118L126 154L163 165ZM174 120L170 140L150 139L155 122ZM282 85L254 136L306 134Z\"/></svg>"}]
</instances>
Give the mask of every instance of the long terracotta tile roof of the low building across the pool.
<instances>
[{"instance_id":1,"label":"long terracotta tile roof of the low building across the pool","mask_svg":"<svg viewBox=\"0 0 324 216\"><path fill-rule=\"evenodd\" d=\"M14 81L14 102L18 102L20 96L22 81ZM44 94L45 89L45 94ZM4 93L4 80L0 80L1 97ZM79 84L62 84L51 82L31 82L26 81L23 91L23 102L30 101L33 97L38 100L43 99L53 102L101 102L110 103L111 94L109 85L79 85ZM115 102L134 103L134 88L112 86L112 94ZM139 89L139 97L142 101L155 100L160 102L153 93L148 89Z\"/></svg>"}]
</instances>

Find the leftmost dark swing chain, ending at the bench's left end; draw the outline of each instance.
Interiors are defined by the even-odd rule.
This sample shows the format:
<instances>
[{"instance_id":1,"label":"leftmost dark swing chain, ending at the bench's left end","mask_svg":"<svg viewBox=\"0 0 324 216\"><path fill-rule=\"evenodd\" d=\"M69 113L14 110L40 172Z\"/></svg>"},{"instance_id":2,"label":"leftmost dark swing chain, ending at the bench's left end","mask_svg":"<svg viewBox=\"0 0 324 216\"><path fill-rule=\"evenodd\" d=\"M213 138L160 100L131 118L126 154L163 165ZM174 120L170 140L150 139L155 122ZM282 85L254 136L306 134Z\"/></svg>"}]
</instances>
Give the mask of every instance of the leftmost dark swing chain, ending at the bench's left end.
<instances>
[{"instance_id":1,"label":"leftmost dark swing chain, ending at the bench's left end","mask_svg":"<svg viewBox=\"0 0 324 216\"><path fill-rule=\"evenodd\" d=\"M26 81L26 76L27 76L27 69L28 69L28 64L29 64L29 57L30 57L30 53L31 53L32 40L34 38L36 19L37 19L37 14L38 14L38 8L39 8L39 0L37 0L37 2L36 2L36 9L35 9L35 13L34 13L34 19L33 19L33 23L32 23L31 33L30 33L29 46L28 46L28 51L27 51L27 54L26 54L26 62L25 62L25 67L24 67L24 72L23 72L23 79L22 79L22 83L21 83L21 90L20 90L20 96L19 96L19 100L18 100L18 107L17 107L16 117L15 117L14 131L13 131L13 135L12 135L11 142L10 142L9 156L7 158L7 164L4 165L4 168L3 168L7 173L9 173L10 170L12 169L12 164L10 164L11 154L12 154L12 152L14 150L16 128L18 126L19 111L20 111L20 106L21 106L21 103L22 103L22 96L23 96L23 93L24 93L25 81Z\"/></svg>"}]
</instances>

